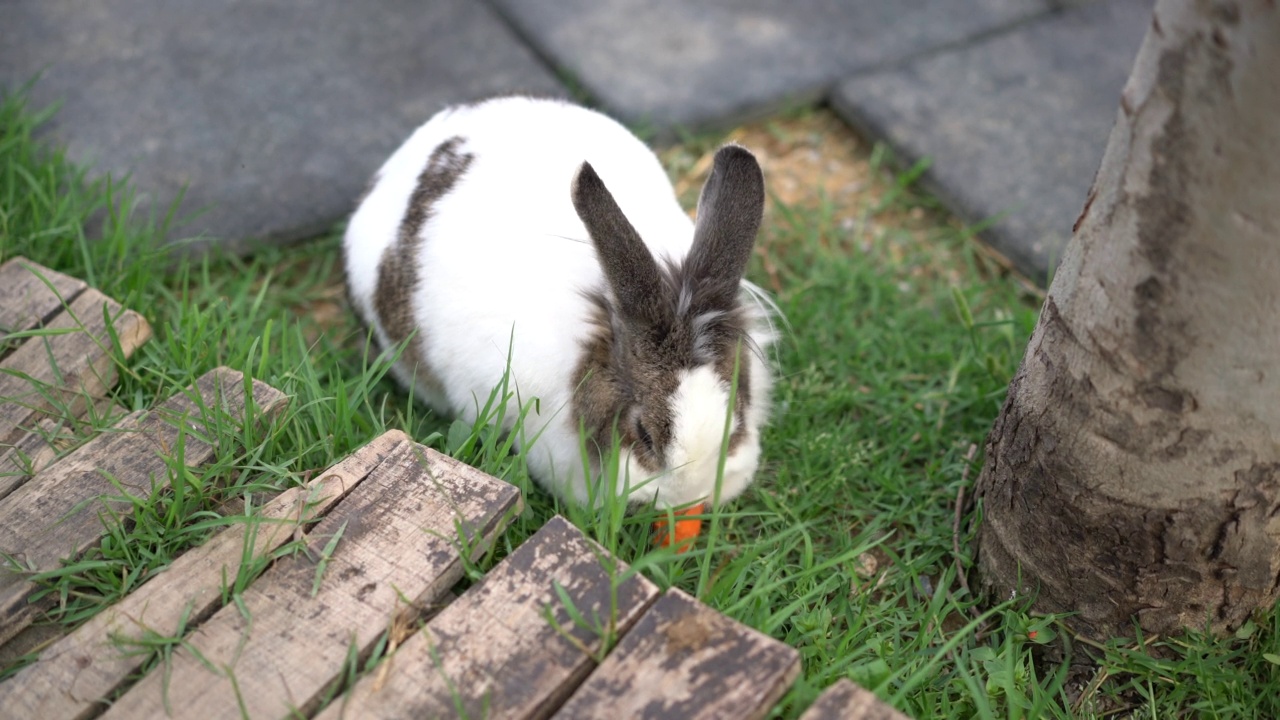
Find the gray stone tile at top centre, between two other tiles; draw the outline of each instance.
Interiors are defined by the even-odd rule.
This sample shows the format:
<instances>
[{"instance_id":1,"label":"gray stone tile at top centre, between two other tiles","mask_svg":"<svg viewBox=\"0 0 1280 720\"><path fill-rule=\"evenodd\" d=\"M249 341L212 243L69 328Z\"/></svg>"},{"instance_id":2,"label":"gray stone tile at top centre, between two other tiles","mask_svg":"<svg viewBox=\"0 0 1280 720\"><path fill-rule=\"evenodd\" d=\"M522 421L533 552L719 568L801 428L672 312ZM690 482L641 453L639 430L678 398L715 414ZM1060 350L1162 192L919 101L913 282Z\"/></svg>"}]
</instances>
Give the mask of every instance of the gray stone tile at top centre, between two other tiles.
<instances>
[{"instance_id":1,"label":"gray stone tile at top centre, between two other tiles","mask_svg":"<svg viewBox=\"0 0 1280 720\"><path fill-rule=\"evenodd\" d=\"M612 114L654 129L814 100L847 73L1046 12L1053 0L493 0Z\"/></svg>"}]
</instances>

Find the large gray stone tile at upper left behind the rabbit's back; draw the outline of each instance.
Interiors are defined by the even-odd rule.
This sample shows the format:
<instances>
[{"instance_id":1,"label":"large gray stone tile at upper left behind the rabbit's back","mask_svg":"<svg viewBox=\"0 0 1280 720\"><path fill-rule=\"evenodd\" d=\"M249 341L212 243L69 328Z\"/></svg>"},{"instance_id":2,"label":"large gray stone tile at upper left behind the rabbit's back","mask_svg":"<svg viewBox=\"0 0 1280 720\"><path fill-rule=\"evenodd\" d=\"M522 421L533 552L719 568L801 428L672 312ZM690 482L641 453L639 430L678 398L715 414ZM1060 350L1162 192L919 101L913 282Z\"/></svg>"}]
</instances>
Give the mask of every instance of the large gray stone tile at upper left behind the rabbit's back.
<instances>
[{"instance_id":1,"label":"large gray stone tile at upper left behind the rabbit's back","mask_svg":"<svg viewBox=\"0 0 1280 720\"><path fill-rule=\"evenodd\" d=\"M439 108L562 94L472 0L6 0L0 86L37 72L54 137L168 206L175 228L243 247L344 217L369 176Z\"/></svg>"}]
</instances>

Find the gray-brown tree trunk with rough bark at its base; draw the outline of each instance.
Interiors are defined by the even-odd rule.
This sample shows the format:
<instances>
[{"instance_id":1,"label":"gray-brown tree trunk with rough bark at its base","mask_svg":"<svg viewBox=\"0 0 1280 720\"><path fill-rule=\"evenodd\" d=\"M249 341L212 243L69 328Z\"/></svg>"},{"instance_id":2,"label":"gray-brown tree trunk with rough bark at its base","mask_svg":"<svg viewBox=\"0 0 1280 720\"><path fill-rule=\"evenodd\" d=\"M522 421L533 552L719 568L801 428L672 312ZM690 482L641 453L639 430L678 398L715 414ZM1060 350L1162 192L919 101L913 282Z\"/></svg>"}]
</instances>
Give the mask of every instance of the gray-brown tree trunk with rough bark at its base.
<instances>
[{"instance_id":1,"label":"gray-brown tree trunk with rough bark at its base","mask_svg":"<svg viewBox=\"0 0 1280 720\"><path fill-rule=\"evenodd\" d=\"M992 428L978 569L1094 638L1280 591L1280 10L1160 0Z\"/></svg>"}]
</instances>

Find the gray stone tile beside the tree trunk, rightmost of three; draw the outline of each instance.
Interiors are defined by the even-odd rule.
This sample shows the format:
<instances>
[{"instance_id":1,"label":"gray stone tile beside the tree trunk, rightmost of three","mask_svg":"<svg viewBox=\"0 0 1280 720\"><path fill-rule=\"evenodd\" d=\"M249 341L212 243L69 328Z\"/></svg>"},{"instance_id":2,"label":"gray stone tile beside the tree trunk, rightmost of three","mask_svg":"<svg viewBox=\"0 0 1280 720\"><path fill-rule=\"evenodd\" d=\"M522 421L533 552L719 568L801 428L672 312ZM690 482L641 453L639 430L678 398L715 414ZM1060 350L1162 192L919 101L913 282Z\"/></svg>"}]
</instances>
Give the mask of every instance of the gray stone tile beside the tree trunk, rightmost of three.
<instances>
[{"instance_id":1,"label":"gray stone tile beside the tree trunk, rightmost of three","mask_svg":"<svg viewBox=\"0 0 1280 720\"><path fill-rule=\"evenodd\" d=\"M928 187L1043 283L1071 234L1151 22L1151 0L1101 0L980 44L855 77L833 95Z\"/></svg>"}]
</instances>

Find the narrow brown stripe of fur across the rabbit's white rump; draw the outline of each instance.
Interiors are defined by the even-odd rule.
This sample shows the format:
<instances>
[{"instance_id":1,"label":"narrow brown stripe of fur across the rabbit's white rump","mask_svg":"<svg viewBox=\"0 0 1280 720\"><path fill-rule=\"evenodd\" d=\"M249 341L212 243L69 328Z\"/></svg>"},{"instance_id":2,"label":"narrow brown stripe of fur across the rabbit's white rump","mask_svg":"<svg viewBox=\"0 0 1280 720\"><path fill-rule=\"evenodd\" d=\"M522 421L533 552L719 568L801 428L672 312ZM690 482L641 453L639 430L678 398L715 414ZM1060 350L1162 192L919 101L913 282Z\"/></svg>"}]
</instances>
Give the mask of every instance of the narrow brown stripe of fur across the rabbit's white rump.
<instances>
[{"instance_id":1,"label":"narrow brown stripe of fur across the rabbit's white rump","mask_svg":"<svg viewBox=\"0 0 1280 720\"><path fill-rule=\"evenodd\" d=\"M431 217L431 206L453 190L475 158L470 152L460 154L461 145L461 137L451 137L431 151L426 167L417 176L417 186L410 197L399 237L378 264L374 311L393 345L404 342L415 329L412 297L420 281L417 256L422 243L422 225ZM419 328L417 338L406 345L399 361L415 372L420 383L439 388L440 383L431 374L421 352L425 343L426 338Z\"/></svg>"}]
</instances>

